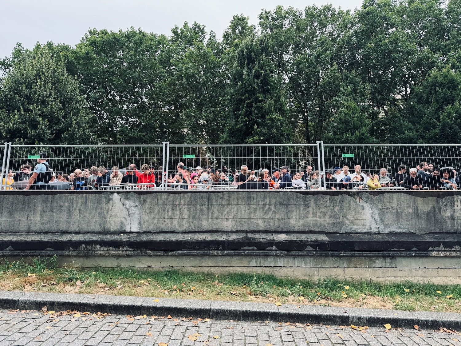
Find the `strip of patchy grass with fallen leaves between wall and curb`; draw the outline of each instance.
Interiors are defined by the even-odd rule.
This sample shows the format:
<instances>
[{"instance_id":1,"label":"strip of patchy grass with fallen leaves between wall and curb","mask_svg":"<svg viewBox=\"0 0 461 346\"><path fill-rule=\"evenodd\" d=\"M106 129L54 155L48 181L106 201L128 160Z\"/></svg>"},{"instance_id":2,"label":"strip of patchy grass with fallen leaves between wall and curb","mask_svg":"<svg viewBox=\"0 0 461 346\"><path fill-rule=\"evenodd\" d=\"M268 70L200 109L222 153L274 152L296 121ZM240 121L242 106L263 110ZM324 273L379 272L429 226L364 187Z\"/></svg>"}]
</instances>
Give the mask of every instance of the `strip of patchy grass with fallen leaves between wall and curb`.
<instances>
[{"instance_id":1,"label":"strip of patchy grass with fallen leaves between wall and curb","mask_svg":"<svg viewBox=\"0 0 461 346\"><path fill-rule=\"evenodd\" d=\"M213 274L140 268L56 268L57 258L0 263L0 289L365 307L461 311L461 285L411 281L382 284L337 279L299 280L271 274Z\"/></svg>"}]
</instances>

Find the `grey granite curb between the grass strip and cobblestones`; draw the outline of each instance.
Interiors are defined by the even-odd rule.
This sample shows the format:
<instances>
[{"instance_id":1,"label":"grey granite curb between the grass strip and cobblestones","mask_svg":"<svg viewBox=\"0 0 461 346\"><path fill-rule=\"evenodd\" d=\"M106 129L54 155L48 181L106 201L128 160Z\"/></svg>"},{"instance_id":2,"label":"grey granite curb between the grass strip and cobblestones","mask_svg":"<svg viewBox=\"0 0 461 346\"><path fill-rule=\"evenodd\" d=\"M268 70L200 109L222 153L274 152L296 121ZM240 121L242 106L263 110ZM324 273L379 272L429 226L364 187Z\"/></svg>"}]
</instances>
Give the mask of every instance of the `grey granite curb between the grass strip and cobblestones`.
<instances>
[{"instance_id":1,"label":"grey granite curb between the grass strip and cobblestones","mask_svg":"<svg viewBox=\"0 0 461 346\"><path fill-rule=\"evenodd\" d=\"M200 299L128 297L71 293L0 291L0 308L19 310L80 310L120 315L193 316L235 321L355 325L461 330L461 313L340 308L316 305L230 302Z\"/></svg>"}]
</instances>

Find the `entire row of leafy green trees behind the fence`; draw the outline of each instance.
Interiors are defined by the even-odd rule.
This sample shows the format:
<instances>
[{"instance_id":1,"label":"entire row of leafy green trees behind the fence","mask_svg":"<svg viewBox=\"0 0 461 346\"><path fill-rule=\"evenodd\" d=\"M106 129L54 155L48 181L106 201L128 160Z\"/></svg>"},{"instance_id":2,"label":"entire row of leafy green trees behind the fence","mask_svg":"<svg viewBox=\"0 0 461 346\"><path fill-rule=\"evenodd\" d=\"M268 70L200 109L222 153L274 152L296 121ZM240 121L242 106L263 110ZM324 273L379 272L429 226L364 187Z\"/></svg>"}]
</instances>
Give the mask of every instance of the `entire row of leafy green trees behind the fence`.
<instances>
[{"instance_id":1,"label":"entire row of leafy green trees behind the fence","mask_svg":"<svg viewBox=\"0 0 461 346\"><path fill-rule=\"evenodd\" d=\"M460 143L461 0L89 30L0 61L0 141Z\"/></svg>"}]
</instances>

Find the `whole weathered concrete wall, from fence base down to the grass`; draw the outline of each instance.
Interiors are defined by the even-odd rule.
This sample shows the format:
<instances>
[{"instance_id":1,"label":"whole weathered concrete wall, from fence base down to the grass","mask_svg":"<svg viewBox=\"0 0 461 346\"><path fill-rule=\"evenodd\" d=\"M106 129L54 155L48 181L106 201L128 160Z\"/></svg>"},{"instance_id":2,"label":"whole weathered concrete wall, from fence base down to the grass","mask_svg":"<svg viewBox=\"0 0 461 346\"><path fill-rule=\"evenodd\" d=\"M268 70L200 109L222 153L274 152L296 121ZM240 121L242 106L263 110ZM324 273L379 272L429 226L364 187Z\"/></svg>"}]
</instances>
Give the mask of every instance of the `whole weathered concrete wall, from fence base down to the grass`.
<instances>
[{"instance_id":1,"label":"whole weathered concrete wall, from fence base down to the grass","mask_svg":"<svg viewBox=\"0 0 461 346\"><path fill-rule=\"evenodd\" d=\"M4 191L0 257L461 284L457 191Z\"/></svg>"}]
</instances>

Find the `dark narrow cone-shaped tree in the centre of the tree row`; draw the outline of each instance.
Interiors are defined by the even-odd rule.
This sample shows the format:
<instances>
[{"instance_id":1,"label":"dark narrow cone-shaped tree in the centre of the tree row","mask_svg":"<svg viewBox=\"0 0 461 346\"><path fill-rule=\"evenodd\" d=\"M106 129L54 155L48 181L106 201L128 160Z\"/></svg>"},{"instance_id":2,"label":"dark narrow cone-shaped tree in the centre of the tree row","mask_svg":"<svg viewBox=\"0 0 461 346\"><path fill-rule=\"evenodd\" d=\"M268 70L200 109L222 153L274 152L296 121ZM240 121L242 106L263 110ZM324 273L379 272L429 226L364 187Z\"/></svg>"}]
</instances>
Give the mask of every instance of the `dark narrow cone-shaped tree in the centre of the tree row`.
<instances>
[{"instance_id":1,"label":"dark narrow cone-shaped tree in the centre of the tree row","mask_svg":"<svg viewBox=\"0 0 461 346\"><path fill-rule=\"evenodd\" d=\"M235 52L228 94L226 143L290 143L287 101L268 50L269 39L248 37Z\"/></svg>"}]
</instances>

